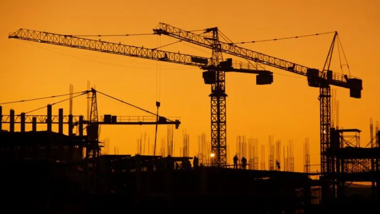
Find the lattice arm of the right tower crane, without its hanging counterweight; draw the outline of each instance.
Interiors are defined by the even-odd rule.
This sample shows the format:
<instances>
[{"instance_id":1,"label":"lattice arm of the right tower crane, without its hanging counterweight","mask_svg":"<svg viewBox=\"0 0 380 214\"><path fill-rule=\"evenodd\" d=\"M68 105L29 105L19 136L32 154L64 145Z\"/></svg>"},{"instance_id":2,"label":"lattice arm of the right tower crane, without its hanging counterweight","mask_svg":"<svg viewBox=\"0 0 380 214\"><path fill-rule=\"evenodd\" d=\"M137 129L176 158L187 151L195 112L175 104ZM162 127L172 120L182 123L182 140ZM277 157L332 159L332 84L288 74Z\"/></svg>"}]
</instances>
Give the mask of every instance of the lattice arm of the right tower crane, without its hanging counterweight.
<instances>
[{"instance_id":1,"label":"lattice arm of the right tower crane, without its hanging counterweight","mask_svg":"<svg viewBox=\"0 0 380 214\"><path fill-rule=\"evenodd\" d=\"M180 28L173 27L165 23L159 23L159 27L157 29L153 29L153 32L157 35L171 36L205 48L212 49L212 39L207 36L207 33L215 30L218 29L216 27L208 28L205 29L205 32L203 34L198 35ZM252 60L257 63L262 63L264 65L268 65L274 68L297 73L303 76L307 76L307 70L311 69L297 63L286 61L284 59L276 58L273 56L269 56L266 54L239 47L233 43L220 41L220 44L221 52ZM330 85L335 85L343 88L353 87L352 84L347 84L348 77L342 74L330 73L330 75L327 75L324 72L320 72L318 75L321 80L328 80L328 84Z\"/></svg>"}]
</instances>

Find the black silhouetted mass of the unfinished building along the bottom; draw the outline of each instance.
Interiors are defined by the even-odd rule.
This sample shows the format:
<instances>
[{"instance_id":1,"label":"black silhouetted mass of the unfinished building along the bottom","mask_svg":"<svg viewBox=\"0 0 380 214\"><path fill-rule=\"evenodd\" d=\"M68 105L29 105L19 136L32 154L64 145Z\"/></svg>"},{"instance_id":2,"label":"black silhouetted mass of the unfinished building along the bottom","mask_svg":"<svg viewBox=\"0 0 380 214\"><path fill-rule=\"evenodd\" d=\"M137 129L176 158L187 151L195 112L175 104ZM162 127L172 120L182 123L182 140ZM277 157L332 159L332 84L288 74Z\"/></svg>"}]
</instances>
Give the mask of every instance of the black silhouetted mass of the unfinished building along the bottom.
<instances>
[{"instance_id":1,"label":"black silhouetted mass of the unfinished building along the bottom","mask_svg":"<svg viewBox=\"0 0 380 214\"><path fill-rule=\"evenodd\" d=\"M2 131L0 142L2 207L13 212L319 214L379 211L378 194L347 197L348 188L344 186L353 178L372 180L375 186L371 190L377 193L377 148L368 150L375 166L370 172L354 177L352 173L335 170L338 174L331 174L334 177L330 180L339 187L339 196L324 200L322 179L313 180L305 173L194 168L189 165L192 158L187 157L100 155L87 159L82 155L88 145L84 136L51 131ZM327 155L336 157L338 167L344 158L354 158L346 154L349 149L331 150ZM368 158L366 152L360 154L364 156L355 158ZM347 167L340 165L343 169Z\"/></svg>"}]
</instances>

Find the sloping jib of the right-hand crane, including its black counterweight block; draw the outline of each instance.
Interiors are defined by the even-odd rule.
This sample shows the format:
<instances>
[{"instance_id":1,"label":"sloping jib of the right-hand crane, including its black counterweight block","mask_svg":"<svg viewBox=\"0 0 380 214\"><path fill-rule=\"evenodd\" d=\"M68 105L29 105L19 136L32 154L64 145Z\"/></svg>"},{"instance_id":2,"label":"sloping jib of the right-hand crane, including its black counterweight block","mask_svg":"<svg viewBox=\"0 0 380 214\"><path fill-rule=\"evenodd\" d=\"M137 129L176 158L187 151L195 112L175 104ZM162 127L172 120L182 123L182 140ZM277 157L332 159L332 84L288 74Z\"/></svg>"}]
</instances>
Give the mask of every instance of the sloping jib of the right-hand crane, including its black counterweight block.
<instances>
[{"instance_id":1,"label":"sloping jib of the right-hand crane, including its black counterweight block","mask_svg":"<svg viewBox=\"0 0 380 214\"><path fill-rule=\"evenodd\" d=\"M202 47L212 49L212 42L209 37L205 36L206 33L218 31L217 28L208 28L203 34L194 34L191 31L186 31L169 24L160 22L158 29L153 29L153 32L158 35L167 35L183 41L187 41ZM362 80L353 76L347 76L332 71L319 71L313 68L308 68L293 62L286 61L277 57L269 56L243 47L239 47L234 43L219 41L220 52L230 55L252 60L256 63L262 63L274 68L290 71L296 74L307 76L308 84L311 87L329 87L329 85L338 86L350 89L350 96L354 98L361 98ZM260 77L261 78L261 77ZM263 78L267 79L267 78ZM269 80L269 79L267 79ZM261 82L259 80L259 82Z\"/></svg>"}]
</instances>

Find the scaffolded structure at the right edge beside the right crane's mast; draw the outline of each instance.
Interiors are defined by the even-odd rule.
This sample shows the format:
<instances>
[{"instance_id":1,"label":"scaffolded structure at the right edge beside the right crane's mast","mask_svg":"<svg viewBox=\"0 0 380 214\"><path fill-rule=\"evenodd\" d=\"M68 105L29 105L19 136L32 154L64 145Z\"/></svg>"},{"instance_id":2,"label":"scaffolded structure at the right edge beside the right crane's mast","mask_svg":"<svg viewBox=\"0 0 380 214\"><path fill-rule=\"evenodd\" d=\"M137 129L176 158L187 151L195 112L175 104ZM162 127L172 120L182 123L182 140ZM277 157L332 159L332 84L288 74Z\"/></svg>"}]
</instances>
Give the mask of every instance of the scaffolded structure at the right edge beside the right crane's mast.
<instances>
[{"instance_id":1,"label":"scaffolded structure at the right edge beside the right crane's mast","mask_svg":"<svg viewBox=\"0 0 380 214\"><path fill-rule=\"evenodd\" d=\"M360 132L359 129L331 128L331 148L326 155L332 160L327 175L333 187L329 195L332 198L343 198L346 182L355 181L371 182L372 195L379 196L380 148L361 147Z\"/></svg>"}]
</instances>

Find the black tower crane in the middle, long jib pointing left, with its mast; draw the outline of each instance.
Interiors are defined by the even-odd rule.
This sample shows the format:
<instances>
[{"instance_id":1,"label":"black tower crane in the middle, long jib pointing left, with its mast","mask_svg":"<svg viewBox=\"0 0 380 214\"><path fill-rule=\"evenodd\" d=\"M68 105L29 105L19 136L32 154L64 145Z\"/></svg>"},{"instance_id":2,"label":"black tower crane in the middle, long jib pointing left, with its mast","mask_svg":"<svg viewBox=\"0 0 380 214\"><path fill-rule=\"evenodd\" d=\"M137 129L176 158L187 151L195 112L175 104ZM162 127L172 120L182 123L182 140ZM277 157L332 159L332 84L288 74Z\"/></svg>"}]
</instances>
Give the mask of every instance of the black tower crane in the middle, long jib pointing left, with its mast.
<instances>
[{"instance_id":1,"label":"black tower crane in the middle, long jib pointing left, with its mast","mask_svg":"<svg viewBox=\"0 0 380 214\"><path fill-rule=\"evenodd\" d=\"M210 38L213 47L221 47L218 32L212 31ZM266 85L273 82L272 72L264 70L252 64L226 59L223 61L220 48L212 50L212 57L200 57L189 54L179 54L156 49L135 47L120 43L87 39L72 35L60 35L48 32L41 32L28 29L19 29L10 33L8 38L17 38L40 43L60 45L72 48L98 51L109 54L120 54L125 56L139 57L145 59L160 60L171 63L179 63L199 67L203 72L204 82L211 85L211 141L212 141L212 165L224 167L227 164L227 143L226 143L226 97L225 93L225 72L243 72L256 75L257 85Z\"/></svg>"}]
</instances>

